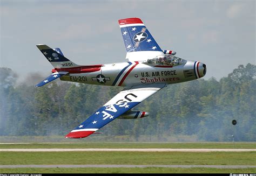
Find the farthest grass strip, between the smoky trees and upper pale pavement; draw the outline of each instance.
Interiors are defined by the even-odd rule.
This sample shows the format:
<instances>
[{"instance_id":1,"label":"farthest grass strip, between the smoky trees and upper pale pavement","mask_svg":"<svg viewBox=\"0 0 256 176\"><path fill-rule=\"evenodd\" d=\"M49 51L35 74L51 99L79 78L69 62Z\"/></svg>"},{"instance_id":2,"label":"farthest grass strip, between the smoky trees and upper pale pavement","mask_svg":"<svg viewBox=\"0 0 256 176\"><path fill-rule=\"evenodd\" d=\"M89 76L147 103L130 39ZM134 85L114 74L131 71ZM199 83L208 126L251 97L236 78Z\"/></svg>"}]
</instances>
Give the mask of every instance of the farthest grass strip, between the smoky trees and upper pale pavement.
<instances>
[{"instance_id":1,"label":"farthest grass strip, between the smoky trees and upper pale pavement","mask_svg":"<svg viewBox=\"0 0 256 176\"><path fill-rule=\"evenodd\" d=\"M256 149L256 143L28 143L0 144L0 149Z\"/></svg>"}]
</instances>

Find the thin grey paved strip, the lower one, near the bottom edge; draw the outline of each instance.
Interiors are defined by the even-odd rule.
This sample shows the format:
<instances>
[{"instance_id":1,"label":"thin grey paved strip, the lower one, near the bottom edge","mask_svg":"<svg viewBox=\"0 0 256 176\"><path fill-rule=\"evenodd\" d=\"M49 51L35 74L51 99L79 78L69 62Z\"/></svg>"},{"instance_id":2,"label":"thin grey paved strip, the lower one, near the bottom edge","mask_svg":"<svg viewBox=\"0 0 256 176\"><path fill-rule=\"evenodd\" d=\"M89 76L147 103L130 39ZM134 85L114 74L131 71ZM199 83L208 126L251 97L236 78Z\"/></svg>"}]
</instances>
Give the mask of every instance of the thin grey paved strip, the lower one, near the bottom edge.
<instances>
[{"instance_id":1,"label":"thin grey paved strip, the lower one, near the bottom edge","mask_svg":"<svg viewBox=\"0 0 256 176\"><path fill-rule=\"evenodd\" d=\"M256 168L253 165L105 165L105 164L85 164L85 165L0 165L0 168L78 168L78 167L171 167L171 168L192 168L192 167L205 167L205 168Z\"/></svg>"}]
</instances>

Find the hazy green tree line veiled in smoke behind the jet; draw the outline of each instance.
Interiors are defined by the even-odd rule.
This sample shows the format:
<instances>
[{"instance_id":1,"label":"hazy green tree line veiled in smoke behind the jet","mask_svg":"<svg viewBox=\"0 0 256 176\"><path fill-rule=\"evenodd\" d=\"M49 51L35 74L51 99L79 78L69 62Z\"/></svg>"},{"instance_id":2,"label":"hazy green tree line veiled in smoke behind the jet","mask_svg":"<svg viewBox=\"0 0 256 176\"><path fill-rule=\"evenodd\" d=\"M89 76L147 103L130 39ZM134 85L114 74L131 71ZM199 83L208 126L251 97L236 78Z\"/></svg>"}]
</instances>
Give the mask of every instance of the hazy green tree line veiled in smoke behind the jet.
<instances>
[{"instance_id":1,"label":"hazy green tree line veiled in smoke behind the jet","mask_svg":"<svg viewBox=\"0 0 256 176\"><path fill-rule=\"evenodd\" d=\"M115 119L103 136L196 136L198 140L256 140L256 66L240 65L227 77L169 85L134 110L140 119ZM55 81L36 88L15 84L17 75L0 68L0 136L63 135L85 121L123 88ZM38 82L41 80L38 80ZM237 125L232 125L232 120ZM235 130L234 130L235 129Z\"/></svg>"}]
</instances>

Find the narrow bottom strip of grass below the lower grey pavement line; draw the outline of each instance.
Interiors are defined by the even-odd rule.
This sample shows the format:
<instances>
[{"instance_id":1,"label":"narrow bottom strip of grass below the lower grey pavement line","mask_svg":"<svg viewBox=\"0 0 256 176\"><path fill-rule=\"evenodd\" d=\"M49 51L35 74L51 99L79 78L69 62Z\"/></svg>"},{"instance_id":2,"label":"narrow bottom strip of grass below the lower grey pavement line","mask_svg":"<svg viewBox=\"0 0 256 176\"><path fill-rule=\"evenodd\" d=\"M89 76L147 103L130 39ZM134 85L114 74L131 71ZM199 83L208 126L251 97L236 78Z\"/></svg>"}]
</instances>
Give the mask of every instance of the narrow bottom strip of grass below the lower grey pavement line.
<instances>
[{"instance_id":1,"label":"narrow bottom strip of grass below the lower grey pavement line","mask_svg":"<svg viewBox=\"0 0 256 176\"><path fill-rule=\"evenodd\" d=\"M0 168L0 173L256 173L256 168Z\"/></svg>"}]
</instances>

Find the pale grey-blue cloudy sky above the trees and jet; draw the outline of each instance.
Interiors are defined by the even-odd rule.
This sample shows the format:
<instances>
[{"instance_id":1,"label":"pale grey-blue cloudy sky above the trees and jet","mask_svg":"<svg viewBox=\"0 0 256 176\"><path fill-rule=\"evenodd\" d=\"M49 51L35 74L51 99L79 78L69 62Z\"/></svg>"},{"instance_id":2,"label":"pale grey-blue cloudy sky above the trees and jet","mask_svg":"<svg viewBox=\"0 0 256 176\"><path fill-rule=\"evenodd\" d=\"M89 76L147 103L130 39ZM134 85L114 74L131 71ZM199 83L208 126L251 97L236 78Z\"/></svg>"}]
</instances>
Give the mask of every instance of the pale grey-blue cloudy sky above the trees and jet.
<instances>
[{"instance_id":1,"label":"pale grey-blue cloudy sky above the trees and jet","mask_svg":"<svg viewBox=\"0 0 256 176\"><path fill-rule=\"evenodd\" d=\"M255 1L0 2L0 67L22 81L51 74L37 44L59 47L79 65L127 61L118 19L130 17L143 20L162 50L204 62L206 80L256 64Z\"/></svg>"}]
</instances>

